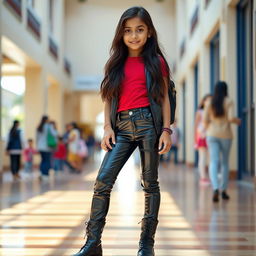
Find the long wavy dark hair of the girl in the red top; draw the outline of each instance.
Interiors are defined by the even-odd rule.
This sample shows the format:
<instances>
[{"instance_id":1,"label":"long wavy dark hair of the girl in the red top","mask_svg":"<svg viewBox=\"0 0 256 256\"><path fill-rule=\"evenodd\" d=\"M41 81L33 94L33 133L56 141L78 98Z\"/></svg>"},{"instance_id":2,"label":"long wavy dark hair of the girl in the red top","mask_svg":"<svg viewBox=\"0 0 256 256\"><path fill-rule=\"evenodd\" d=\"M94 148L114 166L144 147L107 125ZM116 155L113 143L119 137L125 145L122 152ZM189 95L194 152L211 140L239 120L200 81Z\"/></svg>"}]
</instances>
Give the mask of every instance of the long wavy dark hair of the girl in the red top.
<instances>
[{"instance_id":1,"label":"long wavy dark hair of the girl in the red top","mask_svg":"<svg viewBox=\"0 0 256 256\"><path fill-rule=\"evenodd\" d=\"M142 50L141 57L152 78L152 96L157 102L160 102L164 96L164 80L159 56L164 59L168 74L170 74L170 69L158 45L157 32L149 13L143 7L135 6L127 9L118 22L110 49L110 58L105 65L105 77L101 83L100 93L103 101L119 96L120 85L124 78L124 64L128 57L128 48L123 41L124 26L128 19L134 17L139 17L147 25L150 33L150 37L147 39ZM170 79L169 76L168 79Z\"/></svg>"}]
</instances>

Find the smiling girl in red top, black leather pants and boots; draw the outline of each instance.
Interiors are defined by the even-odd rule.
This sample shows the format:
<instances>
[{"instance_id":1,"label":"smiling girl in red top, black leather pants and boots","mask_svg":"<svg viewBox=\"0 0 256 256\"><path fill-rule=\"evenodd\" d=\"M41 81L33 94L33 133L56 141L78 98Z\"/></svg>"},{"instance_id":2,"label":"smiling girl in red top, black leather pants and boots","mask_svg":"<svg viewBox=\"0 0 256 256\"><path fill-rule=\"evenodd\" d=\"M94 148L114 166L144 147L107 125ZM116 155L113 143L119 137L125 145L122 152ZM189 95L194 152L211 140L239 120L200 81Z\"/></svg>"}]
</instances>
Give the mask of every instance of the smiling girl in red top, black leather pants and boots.
<instances>
[{"instance_id":1,"label":"smiling girl in red top, black leather pants and boots","mask_svg":"<svg viewBox=\"0 0 256 256\"><path fill-rule=\"evenodd\" d=\"M107 153L94 185L87 241L75 256L102 255L101 234L110 193L118 173L137 146L145 192L138 256L155 255L154 235L160 205L159 155L171 147L169 77L169 67L149 13L143 7L129 8L116 28L101 84L105 103L101 147Z\"/></svg>"}]
</instances>

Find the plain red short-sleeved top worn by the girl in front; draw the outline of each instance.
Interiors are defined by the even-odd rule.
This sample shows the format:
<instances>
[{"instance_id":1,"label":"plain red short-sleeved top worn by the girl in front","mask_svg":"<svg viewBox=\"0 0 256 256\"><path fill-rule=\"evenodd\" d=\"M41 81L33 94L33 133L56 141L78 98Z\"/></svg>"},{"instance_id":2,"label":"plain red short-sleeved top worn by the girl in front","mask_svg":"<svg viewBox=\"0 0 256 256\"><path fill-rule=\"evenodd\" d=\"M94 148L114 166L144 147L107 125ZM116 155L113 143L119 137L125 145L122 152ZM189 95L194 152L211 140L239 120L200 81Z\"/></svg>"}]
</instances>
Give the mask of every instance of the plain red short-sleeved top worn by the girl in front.
<instances>
[{"instance_id":1,"label":"plain red short-sleeved top worn by the girl in front","mask_svg":"<svg viewBox=\"0 0 256 256\"><path fill-rule=\"evenodd\" d=\"M159 59L163 76L168 76L164 59L162 57L159 57ZM117 112L149 105L143 58L127 57L124 65L124 80L121 84Z\"/></svg>"}]
</instances>

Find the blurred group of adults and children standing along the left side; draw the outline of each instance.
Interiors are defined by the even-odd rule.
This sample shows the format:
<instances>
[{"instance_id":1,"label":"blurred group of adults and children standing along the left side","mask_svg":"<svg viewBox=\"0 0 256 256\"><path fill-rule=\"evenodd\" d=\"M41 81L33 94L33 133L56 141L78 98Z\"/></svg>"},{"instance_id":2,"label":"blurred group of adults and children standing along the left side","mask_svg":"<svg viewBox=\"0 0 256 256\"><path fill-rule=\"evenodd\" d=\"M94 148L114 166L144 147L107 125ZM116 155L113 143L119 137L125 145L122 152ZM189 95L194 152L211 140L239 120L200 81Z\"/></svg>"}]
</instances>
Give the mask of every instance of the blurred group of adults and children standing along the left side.
<instances>
[{"instance_id":1,"label":"blurred group of adults and children standing along the left side","mask_svg":"<svg viewBox=\"0 0 256 256\"><path fill-rule=\"evenodd\" d=\"M15 120L7 139L6 152L10 156L10 167L14 180L20 178L21 156L24 157L24 170L33 170L33 156L40 154L40 178L47 180L49 170L62 171L64 166L72 173L81 173L83 159L88 156L88 147L81 136L81 131L75 122L66 125L65 133L60 136L54 121L43 116L36 130L36 147L33 139L25 143L20 129L20 122ZM89 148L93 146L89 140Z\"/></svg>"}]
</instances>

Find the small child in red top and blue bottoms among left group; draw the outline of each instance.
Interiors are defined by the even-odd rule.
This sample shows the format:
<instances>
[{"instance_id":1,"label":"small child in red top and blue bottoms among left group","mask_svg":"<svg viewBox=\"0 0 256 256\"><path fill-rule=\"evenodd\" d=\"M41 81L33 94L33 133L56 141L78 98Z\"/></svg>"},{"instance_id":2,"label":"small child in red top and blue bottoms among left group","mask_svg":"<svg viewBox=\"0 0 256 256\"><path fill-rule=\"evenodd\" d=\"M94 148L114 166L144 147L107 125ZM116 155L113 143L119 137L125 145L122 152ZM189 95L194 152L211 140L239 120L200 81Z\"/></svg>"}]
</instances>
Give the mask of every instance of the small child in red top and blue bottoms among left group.
<instances>
[{"instance_id":1,"label":"small child in red top and blue bottoms among left group","mask_svg":"<svg viewBox=\"0 0 256 256\"><path fill-rule=\"evenodd\" d=\"M55 171L63 171L64 161L66 160L67 150L63 138L58 137L58 144L53 155L53 169Z\"/></svg>"}]
</instances>

